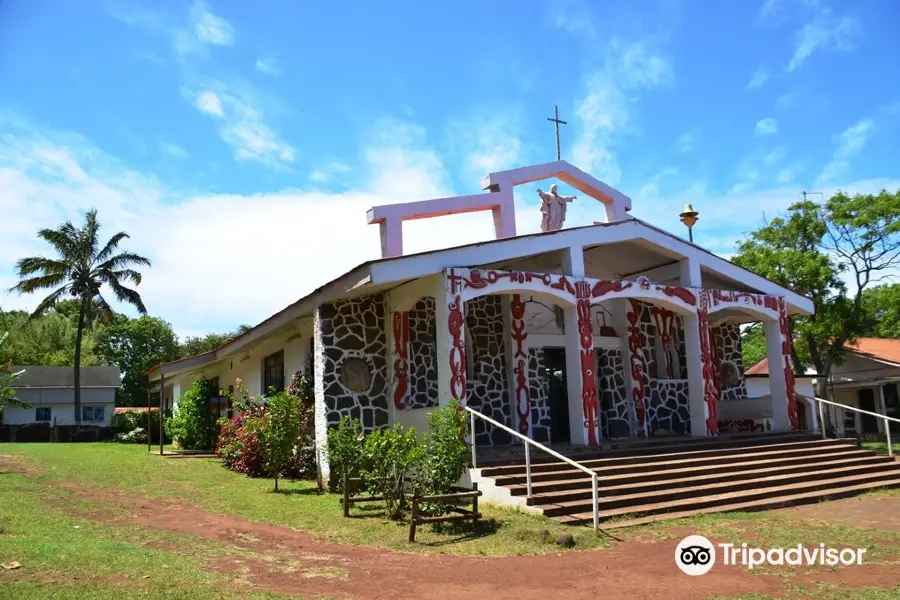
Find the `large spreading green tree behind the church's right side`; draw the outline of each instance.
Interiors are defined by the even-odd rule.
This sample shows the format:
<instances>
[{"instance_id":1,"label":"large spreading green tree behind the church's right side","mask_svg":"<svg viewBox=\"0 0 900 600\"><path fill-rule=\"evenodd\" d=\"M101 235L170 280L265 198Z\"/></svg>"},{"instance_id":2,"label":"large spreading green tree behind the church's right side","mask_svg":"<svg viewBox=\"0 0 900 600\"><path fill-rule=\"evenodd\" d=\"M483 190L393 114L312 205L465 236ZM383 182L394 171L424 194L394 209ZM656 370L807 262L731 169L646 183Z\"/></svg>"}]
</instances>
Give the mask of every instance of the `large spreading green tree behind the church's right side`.
<instances>
[{"instance_id":1,"label":"large spreading green tree behind the church's right side","mask_svg":"<svg viewBox=\"0 0 900 600\"><path fill-rule=\"evenodd\" d=\"M900 264L900 190L797 202L750 233L733 260L813 300L814 315L791 319L792 360L814 366L825 389L844 344L866 334L866 290Z\"/></svg>"}]
</instances>

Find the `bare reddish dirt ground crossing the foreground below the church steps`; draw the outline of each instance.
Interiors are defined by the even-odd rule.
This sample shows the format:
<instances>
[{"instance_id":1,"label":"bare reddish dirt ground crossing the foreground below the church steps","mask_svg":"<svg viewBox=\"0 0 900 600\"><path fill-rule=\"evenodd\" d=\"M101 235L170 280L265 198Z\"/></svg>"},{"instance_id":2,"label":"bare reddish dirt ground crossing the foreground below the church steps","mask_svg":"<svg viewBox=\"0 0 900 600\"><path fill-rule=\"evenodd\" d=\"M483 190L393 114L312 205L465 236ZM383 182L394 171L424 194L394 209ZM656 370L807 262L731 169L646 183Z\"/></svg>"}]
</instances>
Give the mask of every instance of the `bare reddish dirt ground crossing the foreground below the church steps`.
<instances>
[{"instance_id":1,"label":"bare reddish dirt ground crossing the foreground below the church steps","mask_svg":"<svg viewBox=\"0 0 900 600\"><path fill-rule=\"evenodd\" d=\"M887 587L900 582L900 565L863 564L829 570L813 568L793 573L750 573L740 567L715 567L702 577L689 577L675 566L678 539L643 539L616 532L623 541L612 548L561 552L545 556L478 558L423 556L371 547L335 544L285 527L276 527L211 513L199 506L173 501L85 489L60 484L77 496L113 510L84 516L133 523L239 550L210 557L210 567L236 579L236 585L257 590L346 598L659 598L660 590L675 599L702 599L751 592L778 595L789 583L838 583L847 587ZM855 504L854 504L855 503ZM896 520L900 497L851 499L790 509L804 518L831 519L845 506L860 511L867 522L900 527ZM857 521L858 523L858 521ZM680 534L681 530L677 530ZM686 532L688 533L688 532ZM749 540L748 540L749 541ZM169 549L169 548L167 548ZM173 547L171 550L177 551Z\"/></svg>"}]
</instances>

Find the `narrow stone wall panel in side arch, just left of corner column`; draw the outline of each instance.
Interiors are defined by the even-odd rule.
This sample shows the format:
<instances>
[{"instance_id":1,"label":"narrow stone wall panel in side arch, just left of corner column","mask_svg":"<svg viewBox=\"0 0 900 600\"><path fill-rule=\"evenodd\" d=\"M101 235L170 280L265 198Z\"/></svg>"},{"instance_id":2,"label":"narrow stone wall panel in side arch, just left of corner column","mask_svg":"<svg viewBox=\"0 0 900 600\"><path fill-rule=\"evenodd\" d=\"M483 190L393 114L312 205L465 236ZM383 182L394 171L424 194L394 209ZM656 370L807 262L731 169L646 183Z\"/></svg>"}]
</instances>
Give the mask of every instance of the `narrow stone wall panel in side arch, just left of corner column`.
<instances>
[{"instance_id":1,"label":"narrow stone wall panel in side arch, just left of corner column","mask_svg":"<svg viewBox=\"0 0 900 600\"><path fill-rule=\"evenodd\" d=\"M434 340L434 298L421 298L409 311L409 393L404 408L438 406Z\"/></svg>"}]
</instances>

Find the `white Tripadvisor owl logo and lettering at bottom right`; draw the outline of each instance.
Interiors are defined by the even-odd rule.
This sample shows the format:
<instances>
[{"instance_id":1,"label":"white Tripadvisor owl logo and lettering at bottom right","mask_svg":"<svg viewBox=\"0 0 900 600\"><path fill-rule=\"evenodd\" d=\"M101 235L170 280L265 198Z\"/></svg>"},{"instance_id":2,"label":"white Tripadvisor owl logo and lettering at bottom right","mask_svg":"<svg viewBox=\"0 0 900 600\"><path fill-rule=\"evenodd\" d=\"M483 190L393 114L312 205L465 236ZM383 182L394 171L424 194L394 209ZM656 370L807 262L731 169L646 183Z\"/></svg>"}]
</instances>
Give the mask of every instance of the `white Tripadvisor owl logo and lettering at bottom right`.
<instances>
[{"instance_id":1,"label":"white Tripadvisor owl logo and lettering at bottom right","mask_svg":"<svg viewBox=\"0 0 900 600\"><path fill-rule=\"evenodd\" d=\"M760 565L822 565L834 567L861 565L867 548L829 548L825 544L791 548L752 548L747 544L713 544L702 535L689 535L675 547L675 564L688 575L705 575L716 564L716 555L723 565L740 565L753 569Z\"/></svg>"}]
</instances>

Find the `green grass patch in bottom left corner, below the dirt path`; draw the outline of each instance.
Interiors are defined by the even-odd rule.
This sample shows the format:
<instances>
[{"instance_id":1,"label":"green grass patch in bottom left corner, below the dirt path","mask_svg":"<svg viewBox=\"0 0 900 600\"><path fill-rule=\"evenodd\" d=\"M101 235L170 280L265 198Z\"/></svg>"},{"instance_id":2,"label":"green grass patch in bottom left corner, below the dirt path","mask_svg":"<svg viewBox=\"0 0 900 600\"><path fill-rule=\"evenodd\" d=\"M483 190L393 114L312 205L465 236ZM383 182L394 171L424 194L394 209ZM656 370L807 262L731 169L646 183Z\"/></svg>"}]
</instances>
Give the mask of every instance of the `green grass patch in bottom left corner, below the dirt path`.
<instances>
[{"instance_id":1,"label":"green grass patch in bottom left corner, below the dirt path","mask_svg":"<svg viewBox=\"0 0 900 600\"><path fill-rule=\"evenodd\" d=\"M232 547L68 516L98 507L45 483L0 472L0 563L22 565L0 570L0 598L275 597L232 588L234 577L209 572L205 557Z\"/></svg>"}]
</instances>

